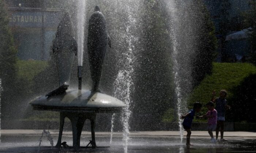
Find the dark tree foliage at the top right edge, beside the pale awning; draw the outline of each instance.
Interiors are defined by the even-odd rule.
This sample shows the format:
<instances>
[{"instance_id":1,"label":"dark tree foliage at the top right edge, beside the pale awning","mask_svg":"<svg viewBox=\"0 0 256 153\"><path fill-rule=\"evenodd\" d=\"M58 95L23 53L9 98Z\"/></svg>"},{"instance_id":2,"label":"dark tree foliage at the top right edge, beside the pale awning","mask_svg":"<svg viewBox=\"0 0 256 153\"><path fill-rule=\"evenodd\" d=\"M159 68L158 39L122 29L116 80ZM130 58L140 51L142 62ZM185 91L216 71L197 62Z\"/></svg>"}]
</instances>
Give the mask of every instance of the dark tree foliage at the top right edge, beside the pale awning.
<instances>
[{"instance_id":1,"label":"dark tree foliage at the top right edge, beside the pale awning","mask_svg":"<svg viewBox=\"0 0 256 153\"><path fill-rule=\"evenodd\" d=\"M256 0L251 0L249 5L251 9L244 13L245 25L247 28L251 28L248 31L249 42L251 43L251 62L256 65Z\"/></svg>"}]
</instances>

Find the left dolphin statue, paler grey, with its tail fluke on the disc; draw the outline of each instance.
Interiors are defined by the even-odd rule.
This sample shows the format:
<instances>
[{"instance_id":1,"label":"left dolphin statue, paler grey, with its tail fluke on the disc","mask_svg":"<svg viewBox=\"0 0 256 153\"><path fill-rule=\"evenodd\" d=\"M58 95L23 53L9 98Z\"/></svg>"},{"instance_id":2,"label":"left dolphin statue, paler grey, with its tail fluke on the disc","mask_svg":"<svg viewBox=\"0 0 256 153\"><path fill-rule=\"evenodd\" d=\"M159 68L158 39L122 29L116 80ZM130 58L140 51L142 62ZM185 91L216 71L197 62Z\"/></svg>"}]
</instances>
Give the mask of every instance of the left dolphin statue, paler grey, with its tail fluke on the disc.
<instances>
[{"instance_id":1,"label":"left dolphin statue, paler grey, with its tail fluke on the disc","mask_svg":"<svg viewBox=\"0 0 256 153\"><path fill-rule=\"evenodd\" d=\"M59 87L46 94L51 97L65 93L69 86L72 63L77 54L74 26L68 12L63 14L53 43L53 58L59 74Z\"/></svg>"}]
</instances>

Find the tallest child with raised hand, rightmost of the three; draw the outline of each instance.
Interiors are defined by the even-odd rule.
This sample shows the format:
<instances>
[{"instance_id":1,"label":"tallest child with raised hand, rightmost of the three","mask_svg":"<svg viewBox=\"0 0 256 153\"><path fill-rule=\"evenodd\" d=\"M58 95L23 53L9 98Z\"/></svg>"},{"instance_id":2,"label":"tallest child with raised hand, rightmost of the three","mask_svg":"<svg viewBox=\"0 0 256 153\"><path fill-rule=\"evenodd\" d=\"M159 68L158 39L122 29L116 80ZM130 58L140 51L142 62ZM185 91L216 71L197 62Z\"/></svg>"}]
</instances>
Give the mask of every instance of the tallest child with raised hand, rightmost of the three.
<instances>
[{"instance_id":1,"label":"tallest child with raised hand, rightmost of the three","mask_svg":"<svg viewBox=\"0 0 256 153\"><path fill-rule=\"evenodd\" d=\"M224 122L225 122L225 111L226 109L230 109L230 106L227 105L227 100L225 99L227 97L227 91L221 90L219 94L219 98L215 98L215 91L212 92L212 98L211 101L216 103L216 110L218 112L217 115L217 128L216 128L216 140L218 140L219 130L221 131L221 141L227 141L223 139L224 134Z\"/></svg>"}]
</instances>

